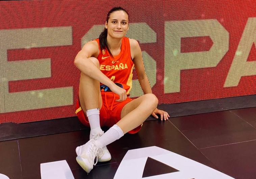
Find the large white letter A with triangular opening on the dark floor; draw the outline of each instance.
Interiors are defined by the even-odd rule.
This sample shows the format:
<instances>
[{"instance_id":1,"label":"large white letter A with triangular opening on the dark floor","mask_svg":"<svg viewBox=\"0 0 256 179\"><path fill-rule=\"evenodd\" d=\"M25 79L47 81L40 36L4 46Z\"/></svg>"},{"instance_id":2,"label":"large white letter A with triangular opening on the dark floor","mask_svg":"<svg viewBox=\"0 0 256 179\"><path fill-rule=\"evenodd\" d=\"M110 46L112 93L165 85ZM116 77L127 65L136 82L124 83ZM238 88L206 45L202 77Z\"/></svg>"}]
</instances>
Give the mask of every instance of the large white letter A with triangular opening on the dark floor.
<instances>
[{"instance_id":1,"label":"large white letter A with triangular opening on the dark floor","mask_svg":"<svg viewBox=\"0 0 256 179\"><path fill-rule=\"evenodd\" d=\"M145 179L233 179L202 163L156 146L129 150L121 161L114 179L142 178L148 157L158 160L178 171L144 177Z\"/></svg>"}]
</instances>

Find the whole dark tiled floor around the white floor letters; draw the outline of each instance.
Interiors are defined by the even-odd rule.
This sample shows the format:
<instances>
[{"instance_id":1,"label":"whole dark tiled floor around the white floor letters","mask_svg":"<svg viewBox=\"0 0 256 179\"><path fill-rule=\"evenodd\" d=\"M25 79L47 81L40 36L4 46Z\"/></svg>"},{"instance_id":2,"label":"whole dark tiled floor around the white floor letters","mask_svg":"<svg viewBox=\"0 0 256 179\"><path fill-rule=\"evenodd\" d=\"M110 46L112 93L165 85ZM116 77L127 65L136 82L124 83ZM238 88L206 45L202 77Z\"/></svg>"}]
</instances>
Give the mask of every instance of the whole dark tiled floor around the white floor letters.
<instances>
[{"instance_id":1,"label":"whole dark tiled floor around the white floor letters","mask_svg":"<svg viewBox=\"0 0 256 179\"><path fill-rule=\"evenodd\" d=\"M108 179L114 177L128 150L158 146L234 178L256 178L255 114L256 108L248 108L175 117L163 122L146 121L139 133L127 134L108 145L112 159L98 163L89 175L75 160L76 146L89 138L88 128L2 141L0 173L10 179L40 179L40 163L67 160L75 179ZM154 162L149 162L148 171L150 165L154 169Z\"/></svg>"}]
</instances>

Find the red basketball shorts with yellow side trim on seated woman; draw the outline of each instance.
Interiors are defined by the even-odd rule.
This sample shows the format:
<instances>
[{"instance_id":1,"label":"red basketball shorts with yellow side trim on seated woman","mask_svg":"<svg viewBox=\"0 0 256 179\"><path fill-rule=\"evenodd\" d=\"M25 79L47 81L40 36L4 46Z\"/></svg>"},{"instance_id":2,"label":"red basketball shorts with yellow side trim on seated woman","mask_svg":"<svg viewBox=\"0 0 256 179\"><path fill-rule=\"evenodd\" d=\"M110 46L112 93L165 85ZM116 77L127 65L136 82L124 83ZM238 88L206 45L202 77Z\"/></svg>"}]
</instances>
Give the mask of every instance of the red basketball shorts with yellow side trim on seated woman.
<instances>
[{"instance_id":1,"label":"red basketball shorts with yellow side trim on seated woman","mask_svg":"<svg viewBox=\"0 0 256 179\"><path fill-rule=\"evenodd\" d=\"M128 102L132 101L132 99L127 97L126 100L117 102L116 100L119 99L119 95L113 92L101 92L101 97L102 107L100 109L100 126L112 127L114 124L120 121L123 107ZM88 118L80 107L79 99L76 102L76 115L83 125L90 127ZM139 125L128 133L137 133L141 127L142 125Z\"/></svg>"}]
</instances>

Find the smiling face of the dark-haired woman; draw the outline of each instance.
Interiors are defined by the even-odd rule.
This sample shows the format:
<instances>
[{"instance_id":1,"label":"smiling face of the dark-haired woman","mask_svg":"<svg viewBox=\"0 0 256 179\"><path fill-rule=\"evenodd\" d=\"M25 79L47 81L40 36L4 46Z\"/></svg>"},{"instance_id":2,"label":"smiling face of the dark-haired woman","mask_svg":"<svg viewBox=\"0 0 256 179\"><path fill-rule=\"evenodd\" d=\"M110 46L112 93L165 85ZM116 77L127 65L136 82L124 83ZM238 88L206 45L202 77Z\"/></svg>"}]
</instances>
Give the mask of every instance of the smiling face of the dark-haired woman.
<instances>
[{"instance_id":1,"label":"smiling face of the dark-haired woman","mask_svg":"<svg viewBox=\"0 0 256 179\"><path fill-rule=\"evenodd\" d=\"M105 23L105 28L108 35L113 38L122 38L128 30L128 14L123 10L114 11L110 14L108 22Z\"/></svg>"}]
</instances>

